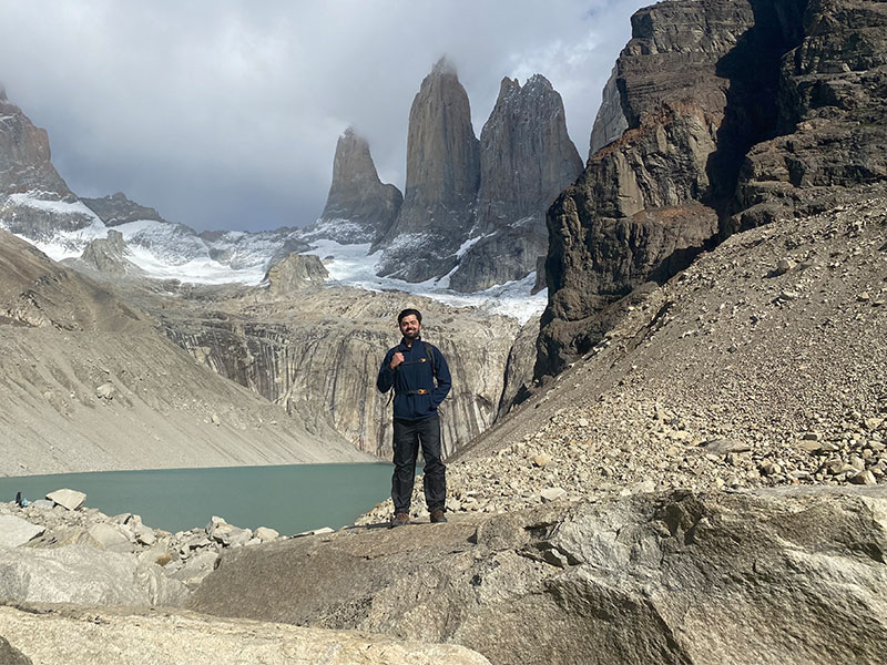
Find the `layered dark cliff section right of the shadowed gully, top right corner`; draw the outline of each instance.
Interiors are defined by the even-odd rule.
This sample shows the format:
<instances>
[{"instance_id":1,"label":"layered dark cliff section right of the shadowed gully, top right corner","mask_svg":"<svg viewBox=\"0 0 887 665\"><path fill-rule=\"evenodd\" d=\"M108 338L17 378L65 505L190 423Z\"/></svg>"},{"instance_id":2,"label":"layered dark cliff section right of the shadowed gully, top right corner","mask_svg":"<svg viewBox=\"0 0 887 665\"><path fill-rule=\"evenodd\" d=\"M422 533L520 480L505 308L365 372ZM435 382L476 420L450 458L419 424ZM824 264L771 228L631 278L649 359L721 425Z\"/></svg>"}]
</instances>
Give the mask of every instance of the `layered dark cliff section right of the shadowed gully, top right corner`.
<instances>
[{"instance_id":1,"label":"layered dark cliff section right of the shadowed gully, top right corner","mask_svg":"<svg viewBox=\"0 0 887 665\"><path fill-rule=\"evenodd\" d=\"M887 177L887 6L813 0L798 25L779 70L781 135L750 151L725 235Z\"/></svg>"}]
</instances>

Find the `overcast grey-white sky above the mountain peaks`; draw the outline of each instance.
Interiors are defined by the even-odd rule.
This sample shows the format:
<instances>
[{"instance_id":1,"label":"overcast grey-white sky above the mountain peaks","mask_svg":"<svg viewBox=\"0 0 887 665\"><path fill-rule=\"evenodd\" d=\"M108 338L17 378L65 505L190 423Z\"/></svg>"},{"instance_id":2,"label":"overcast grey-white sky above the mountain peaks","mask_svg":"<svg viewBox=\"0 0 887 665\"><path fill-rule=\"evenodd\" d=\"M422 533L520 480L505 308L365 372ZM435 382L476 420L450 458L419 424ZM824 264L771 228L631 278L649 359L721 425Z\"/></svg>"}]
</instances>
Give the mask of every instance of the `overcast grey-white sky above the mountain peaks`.
<instances>
[{"instance_id":1,"label":"overcast grey-white sky above the mountain peaks","mask_svg":"<svg viewBox=\"0 0 887 665\"><path fill-rule=\"evenodd\" d=\"M0 0L0 83L81 196L197 229L304 226L354 125L404 190L412 98L457 66L475 134L502 76L547 76L584 160L639 0Z\"/></svg>"}]
</instances>

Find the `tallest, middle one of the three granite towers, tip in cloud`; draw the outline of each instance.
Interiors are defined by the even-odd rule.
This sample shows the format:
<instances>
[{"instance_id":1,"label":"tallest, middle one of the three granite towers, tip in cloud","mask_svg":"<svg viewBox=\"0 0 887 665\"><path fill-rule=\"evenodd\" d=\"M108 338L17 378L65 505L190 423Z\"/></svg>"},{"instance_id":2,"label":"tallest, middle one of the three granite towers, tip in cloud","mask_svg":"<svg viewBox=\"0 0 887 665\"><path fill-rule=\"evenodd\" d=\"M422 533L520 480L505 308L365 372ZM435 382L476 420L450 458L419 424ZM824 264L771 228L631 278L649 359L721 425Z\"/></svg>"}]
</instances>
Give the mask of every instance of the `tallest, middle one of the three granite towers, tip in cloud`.
<instances>
[{"instance_id":1,"label":"tallest, middle one of the three granite towers, tip in cloud","mask_svg":"<svg viewBox=\"0 0 887 665\"><path fill-rule=\"evenodd\" d=\"M455 68L445 59L412 101L404 205L388 234L379 275L422 282L449 273L475 222L479 142Z\"/></svg>"}]
</instances>

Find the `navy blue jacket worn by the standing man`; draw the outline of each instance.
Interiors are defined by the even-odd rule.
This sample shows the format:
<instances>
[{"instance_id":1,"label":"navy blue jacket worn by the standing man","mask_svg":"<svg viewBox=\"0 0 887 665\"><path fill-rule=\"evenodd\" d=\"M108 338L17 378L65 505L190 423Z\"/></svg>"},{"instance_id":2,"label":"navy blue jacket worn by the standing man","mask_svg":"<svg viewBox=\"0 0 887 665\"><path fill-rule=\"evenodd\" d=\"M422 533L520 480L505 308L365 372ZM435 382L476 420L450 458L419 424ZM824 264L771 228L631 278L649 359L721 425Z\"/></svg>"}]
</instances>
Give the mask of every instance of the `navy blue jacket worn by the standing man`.
<instances>
[{"instance_id":1,"label":"navy blue jacket worn by the standing man","mask_svg":"<svg viewBox=\"0 0 887 665\"><path fill-rule=\"evenodd\" d=\"M394 386L395 418L398 420L421 420L436 416L438 406L450 391L450 368L440 350L430 344L428 346L435 355L437 386L431 372L431 359L425 354L426 345L421 338L412 342L412 348L401 339L399 345L388 349L381 361L376 387L381 392L388 392ZM404 362L391 369L391 358L398 351L404 354ZM420 390L425 390L425 393L420 395Z\"/></svg>"}]
</instances>

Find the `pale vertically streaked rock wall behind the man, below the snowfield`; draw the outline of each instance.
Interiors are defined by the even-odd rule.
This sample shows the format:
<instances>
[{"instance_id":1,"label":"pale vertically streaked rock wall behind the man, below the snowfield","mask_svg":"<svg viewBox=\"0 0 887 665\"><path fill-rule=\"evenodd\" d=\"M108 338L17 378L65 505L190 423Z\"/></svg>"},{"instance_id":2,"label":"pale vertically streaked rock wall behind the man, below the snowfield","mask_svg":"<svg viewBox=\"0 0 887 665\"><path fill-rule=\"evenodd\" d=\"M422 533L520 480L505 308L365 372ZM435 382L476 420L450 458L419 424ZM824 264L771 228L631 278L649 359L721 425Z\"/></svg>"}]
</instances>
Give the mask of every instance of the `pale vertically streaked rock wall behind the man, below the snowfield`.
<instances>
[{"instance_id":1,"label":"pale vertically streaked rock wall behind the man, below the snowfield","mask_svg":"<svg viewBox=\"0 0 887 665\"><path fill-rule=\"evenodd\" d=\"M441 407L449 454L492 424L502 393L512 319L400 294L306 289L288 297L248 293L238 300L145 304L166 335L224 377L286 407L309 431L335 429L356 448L390 458L391 407L376 390L395 346L397 313L424 314L422 337L440 348L452 375Z\"/></svg>"}]
</instances>

